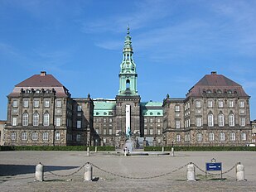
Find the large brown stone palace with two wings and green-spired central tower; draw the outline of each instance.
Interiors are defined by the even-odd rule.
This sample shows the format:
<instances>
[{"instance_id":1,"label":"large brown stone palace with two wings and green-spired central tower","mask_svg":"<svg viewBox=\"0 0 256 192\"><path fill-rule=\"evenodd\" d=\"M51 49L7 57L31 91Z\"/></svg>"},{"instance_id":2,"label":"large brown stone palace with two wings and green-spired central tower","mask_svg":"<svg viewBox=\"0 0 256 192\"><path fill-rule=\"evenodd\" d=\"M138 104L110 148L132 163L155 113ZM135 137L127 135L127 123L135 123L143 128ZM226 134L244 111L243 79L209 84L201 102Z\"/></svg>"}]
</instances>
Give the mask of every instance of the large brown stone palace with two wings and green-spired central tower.
<instances>
[{"instance_id":1,"label":"large brown stone palace with two wings and green-spired central tower","mask_svg":"<svg viewBox=\"0 0 256 192\"><path fill-rule=\"evenodd\" d=\"M53 75L35 74L7 96L6 146L245 146L251 142L249 95L222 74L206 74L185 98L142 102L129 34L118 94L72 98ZM168 90L167 90L168 91Z\"/></svg>"}]
</instances>

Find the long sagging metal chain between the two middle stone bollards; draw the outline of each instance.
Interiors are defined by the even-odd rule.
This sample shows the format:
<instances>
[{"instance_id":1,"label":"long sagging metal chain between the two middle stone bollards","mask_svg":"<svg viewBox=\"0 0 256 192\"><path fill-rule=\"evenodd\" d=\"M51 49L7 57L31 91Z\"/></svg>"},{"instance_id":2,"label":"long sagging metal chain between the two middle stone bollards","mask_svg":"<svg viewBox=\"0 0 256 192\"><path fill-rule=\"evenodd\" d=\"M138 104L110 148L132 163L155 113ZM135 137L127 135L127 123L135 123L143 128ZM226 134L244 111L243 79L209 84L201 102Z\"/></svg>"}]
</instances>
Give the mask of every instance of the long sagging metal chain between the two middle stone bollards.
<instances>
[{"instance_id":1,"label":"long sagging metal chain between the two middle stone bollards","mask_svg":"<svg viewBox=\"0 0 256 192\"><path fill-rule=\"evenodd\" d=\"M114 175L114 176L118 176L118 177L125 178L125 179L130 179L130 180L148 180L148 179L153 179L153 178L157 178L157 177L162 177L162 176L165 176L165 175L170 175L171 173L175 173L176 171L183 169L184 167L186 167L189 164L190 163L187 163L186 165L180 166L179 168L177 168L175 170L172 170L171 172L167 172L167 173L160 174L160 175L147 176L147 177L132 177L132 176L119 175L119 174L110 172L109 170L104 170L104 169L100 168L99 166L96 166L96 165L90 163L91 166L94 166L98 170L102 170L105 173L108 173L109 175Z\"/></svg>"}]
</instances>

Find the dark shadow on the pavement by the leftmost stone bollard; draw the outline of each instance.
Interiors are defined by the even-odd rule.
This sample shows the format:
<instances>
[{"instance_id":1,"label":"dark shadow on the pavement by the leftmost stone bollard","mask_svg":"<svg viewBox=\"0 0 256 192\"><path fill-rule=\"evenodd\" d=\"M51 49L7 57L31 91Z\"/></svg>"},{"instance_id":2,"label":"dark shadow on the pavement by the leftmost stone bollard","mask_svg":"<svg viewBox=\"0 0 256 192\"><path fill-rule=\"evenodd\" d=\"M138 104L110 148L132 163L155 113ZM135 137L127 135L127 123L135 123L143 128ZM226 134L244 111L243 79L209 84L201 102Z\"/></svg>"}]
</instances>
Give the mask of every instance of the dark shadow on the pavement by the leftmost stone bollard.
<instances>
[{"instance_id":1,"label":"dark shadow on the pavement by the leftmost stone bollard","mask_svg":"<svg viewBox=\"0 0 256 192\"><path fill-rule=\"evenodd\" d=\"M79 166L44 166L44 171L71 170ZM0 176L22 175L35 173L36 166L29 165L2 165L0 164Z\"/></svg>"}]
</instances>

